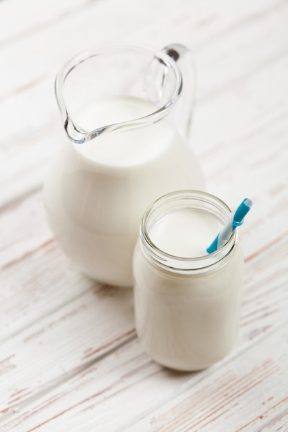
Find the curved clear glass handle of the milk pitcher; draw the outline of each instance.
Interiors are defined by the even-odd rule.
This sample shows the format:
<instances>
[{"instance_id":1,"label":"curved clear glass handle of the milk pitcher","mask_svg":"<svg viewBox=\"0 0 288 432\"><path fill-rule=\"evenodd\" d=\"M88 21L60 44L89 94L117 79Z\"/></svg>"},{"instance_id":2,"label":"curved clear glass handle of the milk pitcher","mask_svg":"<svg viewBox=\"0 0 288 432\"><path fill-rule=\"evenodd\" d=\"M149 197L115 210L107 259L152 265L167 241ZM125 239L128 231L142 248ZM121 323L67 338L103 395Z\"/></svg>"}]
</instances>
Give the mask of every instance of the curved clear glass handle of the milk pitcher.
<instances>
[{"instance_id":1,"label":"curved clear glass handle of the milk pitcher","mask_svg":"<svg viewBox=\"0 0 288 432\"><path fill-rule=\"evenodd\" d=\"M180 133L185 137L189 137L195 103L195 65L193 56L191 50L180 43L171 43L162 51L177 63L182 75L182 94L175 107L175 121Z\"/></svg>"}]
</instances>

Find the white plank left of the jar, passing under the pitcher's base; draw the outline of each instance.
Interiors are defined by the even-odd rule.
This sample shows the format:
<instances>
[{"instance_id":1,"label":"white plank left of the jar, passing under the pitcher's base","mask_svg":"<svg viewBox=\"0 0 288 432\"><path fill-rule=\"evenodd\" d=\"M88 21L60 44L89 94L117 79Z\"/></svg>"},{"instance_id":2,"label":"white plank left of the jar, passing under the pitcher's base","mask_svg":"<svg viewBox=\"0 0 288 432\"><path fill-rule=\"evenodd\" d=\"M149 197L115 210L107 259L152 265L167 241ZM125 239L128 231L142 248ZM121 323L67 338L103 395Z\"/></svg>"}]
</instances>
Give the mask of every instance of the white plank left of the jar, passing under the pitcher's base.
<instances>
[{"instance_id":1,"label":"white plank left of the jar, passing under the pitcher's base","mask_svg":"<svg viewBox=\"0 0 288 432\"><path fill-rule=\"evenodd\" d=\"M35 300L35 307L41 307ZM95 286L43 318L35 318L35 323L1 344L0 413L135 337L133 293L128 289ZM21 395L15 398L20 389Z\"/></svg>"}]
</instances>

